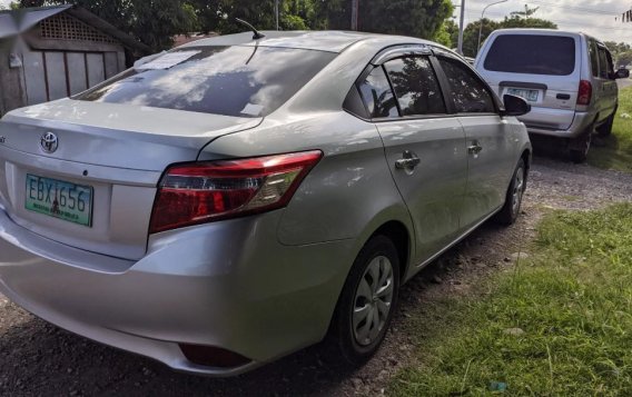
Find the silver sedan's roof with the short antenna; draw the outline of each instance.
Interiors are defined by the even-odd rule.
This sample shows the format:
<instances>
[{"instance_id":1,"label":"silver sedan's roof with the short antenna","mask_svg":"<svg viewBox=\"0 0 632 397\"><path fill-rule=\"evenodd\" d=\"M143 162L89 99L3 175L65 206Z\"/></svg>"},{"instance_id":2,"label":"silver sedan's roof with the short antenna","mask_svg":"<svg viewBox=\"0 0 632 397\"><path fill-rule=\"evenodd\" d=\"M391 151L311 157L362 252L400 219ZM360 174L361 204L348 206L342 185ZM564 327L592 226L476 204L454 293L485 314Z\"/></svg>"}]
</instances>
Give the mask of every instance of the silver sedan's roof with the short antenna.
<instances>
[{"instance_id":1,"label":"silver sedan's roof with the short antenna","mask_svg":"<svg viewBox=\"0 0 632 397\"><path fill-rule=\"evenodd\" d=\"M343 52L348 47L364 41L375 46L376 48L386 48L396 44L432 44L442 47L432 41L404 37L364 33L353 31L261 31L265 34L263 39L254 40L253 32L243 32L236 34L218 36L208 39L201 39L187 43L179 48L188 47L206 47L206 46L259 46L259 47L278 47L278 48L297 48L306 50L317 50L327 52Z\"/></svg>"}]
</instances>

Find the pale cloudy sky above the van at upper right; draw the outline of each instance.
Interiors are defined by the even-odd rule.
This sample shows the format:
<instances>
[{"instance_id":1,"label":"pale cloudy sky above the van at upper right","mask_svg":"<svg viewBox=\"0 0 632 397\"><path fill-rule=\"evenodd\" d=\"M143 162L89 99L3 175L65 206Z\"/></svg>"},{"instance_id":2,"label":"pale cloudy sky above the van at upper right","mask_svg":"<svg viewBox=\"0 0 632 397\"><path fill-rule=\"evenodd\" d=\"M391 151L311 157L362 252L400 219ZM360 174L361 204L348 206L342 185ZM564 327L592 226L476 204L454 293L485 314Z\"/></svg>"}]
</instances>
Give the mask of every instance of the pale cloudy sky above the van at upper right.
<instances>
[{"instance_id":1,"label":"pale cloudy sky above the van at upper right","mask_svg":"<svg viewBox=\"0 0 632 397\"><path fill-rule=\"evenodd\" d=\"M361 0L371 1L371 0ZM460 6L461 0L452 0ZM465 0L465 24L481 18L483 8L498 0ZM0 0L8 6L10 0ZM491 6L485 12L490 19L502 20L511 11L540 7L534 18L549 19L562 30L583 31L603 41L624 41L632 44L632 22L622 23L621 13L632 9L632 0L507 0ZM458 23L460 8L455 8L454 17ZM615 21L614 17L619 20Z\"/></svg>"}]
</instances>

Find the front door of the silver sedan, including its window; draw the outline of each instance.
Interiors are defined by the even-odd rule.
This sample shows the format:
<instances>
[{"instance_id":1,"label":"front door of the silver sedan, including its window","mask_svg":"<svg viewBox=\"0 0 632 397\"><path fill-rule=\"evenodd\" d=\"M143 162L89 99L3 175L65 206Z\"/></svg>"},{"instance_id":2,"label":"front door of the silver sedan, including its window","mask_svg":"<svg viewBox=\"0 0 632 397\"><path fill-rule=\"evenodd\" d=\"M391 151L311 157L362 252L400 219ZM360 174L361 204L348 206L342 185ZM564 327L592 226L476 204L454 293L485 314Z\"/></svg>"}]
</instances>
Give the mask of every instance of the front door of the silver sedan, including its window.
<instances>
[{"instance_id":1,"label":"front door of the silver sedan, including its window","mask_svg":"<svg viewBox=\"0 0 632 397\"><path fill-rule=\"evenodd\" d=\"M461 227L467 230L503 206L516 166L516 137L501 118L492 90L470 66L448 54L437 59L466 137L467 188Z\"/></svg>"}]
</instances>

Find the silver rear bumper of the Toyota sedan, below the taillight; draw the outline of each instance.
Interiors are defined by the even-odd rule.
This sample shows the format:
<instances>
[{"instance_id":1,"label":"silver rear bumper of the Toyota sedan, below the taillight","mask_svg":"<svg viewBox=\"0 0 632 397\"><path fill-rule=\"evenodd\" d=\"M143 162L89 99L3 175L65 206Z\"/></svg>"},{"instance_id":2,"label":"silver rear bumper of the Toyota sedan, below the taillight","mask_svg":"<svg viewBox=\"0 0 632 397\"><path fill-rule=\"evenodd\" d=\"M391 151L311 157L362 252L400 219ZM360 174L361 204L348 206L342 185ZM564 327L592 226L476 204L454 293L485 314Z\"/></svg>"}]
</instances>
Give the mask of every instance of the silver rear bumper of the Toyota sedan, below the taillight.
<instances>
[{"instance_id":1,"label":"silver rear bumper of the Toyota sedan, below the taillight","mask_svg":"<svg viewBox=\"0 0 632 397\"><path fill-rule=\"evenodd\" d=\"M353 240L280 245L282 212L161 234L131 262L34 235L0 207L0 290L49 322L176 370L237 375L319 341L353 262ZM178 344L250 361L201 366Z\"/></svg>"}]
</instances>

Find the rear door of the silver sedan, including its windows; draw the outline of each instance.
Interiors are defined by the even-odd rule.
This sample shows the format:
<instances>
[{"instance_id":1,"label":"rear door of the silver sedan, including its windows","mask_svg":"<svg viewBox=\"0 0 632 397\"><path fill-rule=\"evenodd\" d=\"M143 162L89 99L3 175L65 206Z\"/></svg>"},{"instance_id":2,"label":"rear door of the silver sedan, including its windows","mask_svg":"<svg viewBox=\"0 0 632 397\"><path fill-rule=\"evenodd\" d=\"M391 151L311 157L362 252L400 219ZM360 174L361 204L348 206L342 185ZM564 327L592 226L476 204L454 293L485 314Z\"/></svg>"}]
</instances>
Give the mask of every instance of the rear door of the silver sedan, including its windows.
<instances>
[{"instance_id":1,"label":"rear door of the silver sedan, including its windows","mask_svg":"<svg viewBox=\"0 0 632 397\"><path fill-rule=\"evenodd\" d=\"M413 262L422 264L458 231L467 178L465 135L447 112L428 56L392 56L358 88L413 219Z\"/></svg>"}]
</instances>

